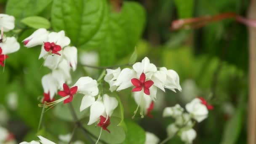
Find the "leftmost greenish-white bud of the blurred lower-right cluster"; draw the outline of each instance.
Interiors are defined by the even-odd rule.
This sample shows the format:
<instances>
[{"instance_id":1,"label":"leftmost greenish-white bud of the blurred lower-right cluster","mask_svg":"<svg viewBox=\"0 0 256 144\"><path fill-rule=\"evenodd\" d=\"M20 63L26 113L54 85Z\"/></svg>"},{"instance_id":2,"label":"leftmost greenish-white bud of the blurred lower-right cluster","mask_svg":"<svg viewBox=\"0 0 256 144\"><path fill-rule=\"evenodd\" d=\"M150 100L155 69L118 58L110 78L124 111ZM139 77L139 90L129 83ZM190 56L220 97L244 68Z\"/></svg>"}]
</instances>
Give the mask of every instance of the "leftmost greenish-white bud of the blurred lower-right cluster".
<instances>
[{"instance_id":1,"label":"leftmost greenish-white bud of the blurred lower-right cluster","mask_svg":"<svg viewBox=\"0 0 256 144\"><path fill-rule=\"evenodd\" d=\"M183 113L184 109L179 105L176 104L174 107L165 107L163 110L163 117L177 117Z\"/></svg>"}]
</instances>

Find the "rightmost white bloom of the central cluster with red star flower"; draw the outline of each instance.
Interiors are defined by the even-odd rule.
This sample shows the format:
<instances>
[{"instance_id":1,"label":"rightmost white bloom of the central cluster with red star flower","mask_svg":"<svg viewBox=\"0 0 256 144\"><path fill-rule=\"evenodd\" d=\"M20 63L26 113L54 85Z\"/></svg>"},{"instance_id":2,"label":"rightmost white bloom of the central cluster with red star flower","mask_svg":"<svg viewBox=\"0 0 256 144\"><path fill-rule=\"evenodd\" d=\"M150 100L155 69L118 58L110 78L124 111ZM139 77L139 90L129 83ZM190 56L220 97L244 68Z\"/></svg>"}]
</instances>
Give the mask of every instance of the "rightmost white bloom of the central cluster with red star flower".
<instances>
[{"instance_id":1,"label":"rightmost white bloom of the central cluster with red star flower","mask_svg":"<svg viewBox=\"0 0 256 144\"><path fill-rule=\"evenodd\" d=\"M179 85L179 75L172 69L166 69L165 67L160 68L160 72L164 72L166 74L166 80L164 82L164 87L168 88L174 92L175 89L181 91L181 86Z\"/></svg>"}]
</instances>

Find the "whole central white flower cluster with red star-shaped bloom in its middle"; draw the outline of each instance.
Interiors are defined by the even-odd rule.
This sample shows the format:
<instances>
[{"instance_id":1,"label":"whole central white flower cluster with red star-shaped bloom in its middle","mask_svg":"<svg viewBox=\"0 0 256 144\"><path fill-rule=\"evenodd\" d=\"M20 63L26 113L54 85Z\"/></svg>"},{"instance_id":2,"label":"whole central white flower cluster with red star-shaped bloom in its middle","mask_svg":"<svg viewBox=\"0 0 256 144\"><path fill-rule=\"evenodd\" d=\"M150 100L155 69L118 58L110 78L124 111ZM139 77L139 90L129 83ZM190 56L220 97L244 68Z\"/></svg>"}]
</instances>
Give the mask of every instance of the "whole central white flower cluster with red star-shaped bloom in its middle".
<instances>
[{"instance_id":1,"label":"whole central white flower cluster with red star-shaped bloom in its middle","mask_svg":"<svg viewBox=\"0 0 256 144\"><path fill-rule=\"evenodd\" d=\"M140 109L141 117L144 114L152 116L150 112L153 109L156 100L157 88L165 92L165 88L176 92L181 91L179 85L179 75L171 69L157 67L150 63L145 57L141 62L133 64L132 69L107 69L107 75L104 80L109 83L110 91L121 91L123 89L134 87L134 99L138 104L137 110Z\"/></svg>"}]
</instances>

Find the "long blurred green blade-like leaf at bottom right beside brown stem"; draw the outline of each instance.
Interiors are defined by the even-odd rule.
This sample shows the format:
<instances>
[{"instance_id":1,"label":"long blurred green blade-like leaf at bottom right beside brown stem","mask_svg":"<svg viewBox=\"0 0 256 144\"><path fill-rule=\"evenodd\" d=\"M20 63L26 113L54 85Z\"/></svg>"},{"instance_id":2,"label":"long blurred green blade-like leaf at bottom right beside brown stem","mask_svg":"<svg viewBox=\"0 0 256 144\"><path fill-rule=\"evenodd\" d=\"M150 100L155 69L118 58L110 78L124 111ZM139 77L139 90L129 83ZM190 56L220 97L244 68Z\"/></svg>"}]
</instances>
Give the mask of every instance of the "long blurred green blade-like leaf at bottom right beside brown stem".
<instances>
[{"instance_id":1,"label":"long blurred green blade-like leaf at bottom right beside brown stem","mask_svg":"<svg viewBox=\"0 0 256 144\"><path fill-rule=\"evenodd\" d=\"M224 129L224 135L221 144L235 144L243 127L245 96L240 99L240 104L235 115L229 120Z\"/></svg>"}]
</instances>

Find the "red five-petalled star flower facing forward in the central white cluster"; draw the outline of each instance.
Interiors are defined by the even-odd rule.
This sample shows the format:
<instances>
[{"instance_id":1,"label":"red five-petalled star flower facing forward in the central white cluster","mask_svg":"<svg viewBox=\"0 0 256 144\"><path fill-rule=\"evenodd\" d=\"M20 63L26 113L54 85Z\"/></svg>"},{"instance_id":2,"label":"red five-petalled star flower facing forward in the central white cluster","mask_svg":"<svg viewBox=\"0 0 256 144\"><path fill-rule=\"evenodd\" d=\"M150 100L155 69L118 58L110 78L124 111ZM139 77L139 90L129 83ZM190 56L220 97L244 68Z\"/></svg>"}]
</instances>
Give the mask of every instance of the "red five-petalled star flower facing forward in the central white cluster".
<instances>
[{"instance_id":1,"label":"red five-petalled star flower facing forward in the central white cluster","mask_svg":"<svg viewBox=\"0 0 256 144\"><path fill-rule=\"evenodd\" d=\"M141 91L142 88L144 88L144 93L147 95L150 94L149 88L154 84L154 82L152 80L146 81L146 75L144 74L144 72L142 72L139 79L137 79L137 78L131 79L131 83L135 86L135 88L133 88L132 92Z\"/></svg>"}]
</instances>

